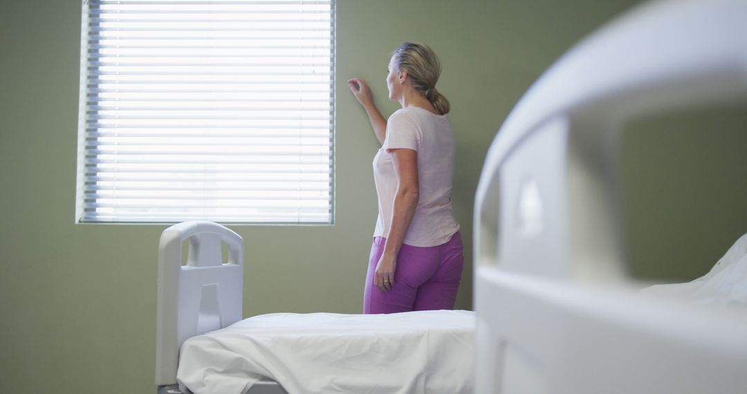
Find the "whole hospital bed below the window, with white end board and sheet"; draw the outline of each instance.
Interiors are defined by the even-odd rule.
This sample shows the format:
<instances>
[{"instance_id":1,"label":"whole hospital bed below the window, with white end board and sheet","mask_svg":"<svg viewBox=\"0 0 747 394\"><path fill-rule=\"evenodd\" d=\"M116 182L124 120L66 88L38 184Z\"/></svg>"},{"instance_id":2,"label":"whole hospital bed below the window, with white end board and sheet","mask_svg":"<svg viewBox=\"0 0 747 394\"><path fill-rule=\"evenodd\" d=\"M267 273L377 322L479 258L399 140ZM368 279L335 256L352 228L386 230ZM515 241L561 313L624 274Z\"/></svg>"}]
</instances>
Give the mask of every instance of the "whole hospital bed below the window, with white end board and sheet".
<instances>
[{"instance_id":1,"label":"whole hospital bed below the window, with white end board and sheet","mask_svg":"<svg viewBox=\"0 0 747 394\"><path fill-rule=\"evenodd\" d=\"M184 222L161 234L159 394L473 392L474 312L242 320L243 256L241 237L216 223Z\"/></svg>"}]
</instances>

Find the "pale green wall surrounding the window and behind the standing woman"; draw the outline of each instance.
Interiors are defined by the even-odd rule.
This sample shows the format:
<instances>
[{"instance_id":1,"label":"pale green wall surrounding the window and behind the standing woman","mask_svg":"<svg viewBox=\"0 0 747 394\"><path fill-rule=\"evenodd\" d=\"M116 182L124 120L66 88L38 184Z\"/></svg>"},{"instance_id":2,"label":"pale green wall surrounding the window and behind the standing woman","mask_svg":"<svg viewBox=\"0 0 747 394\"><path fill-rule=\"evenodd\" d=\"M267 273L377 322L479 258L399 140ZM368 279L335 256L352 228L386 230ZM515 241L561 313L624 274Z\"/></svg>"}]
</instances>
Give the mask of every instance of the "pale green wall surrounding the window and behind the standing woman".
<instances>
[{"instance_id":1,"label":"pale green wall surrounding the window and behind the standing woman","mask_svg":"<svg viewBox=\"0 0 747 394\"><path fill-rule=\"evenodd\" d=\"M495 131L563 51L634 3L338 0L336 223L234 226L246 247L244 314L361 310L377 146L346 81L367 79L382 112L394 111L386 66L405 40L428 43L442 61L438 88L451 101L458 143L453 201L467 240L457 307L471 308L472 204ZM74 224L80 15L80 1L59 0L6 1L0 15L6 393L153 390L164 226Z\"/></svg>"}]
</instances>

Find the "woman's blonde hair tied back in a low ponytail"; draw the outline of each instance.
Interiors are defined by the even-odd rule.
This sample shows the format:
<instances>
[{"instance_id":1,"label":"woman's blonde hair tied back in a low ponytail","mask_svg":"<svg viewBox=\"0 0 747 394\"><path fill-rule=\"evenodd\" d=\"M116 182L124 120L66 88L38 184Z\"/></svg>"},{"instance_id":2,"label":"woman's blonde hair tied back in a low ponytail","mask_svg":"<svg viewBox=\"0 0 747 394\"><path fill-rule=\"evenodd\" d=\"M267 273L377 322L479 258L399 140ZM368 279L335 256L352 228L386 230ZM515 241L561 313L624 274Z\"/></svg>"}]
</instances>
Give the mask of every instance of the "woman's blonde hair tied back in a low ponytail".
<instances>
[{"instance_id":1,"label":"woman's blonde hair tied back in a low ponytail","mask_svg":"<svg viewBox=\"0 0 747 394\"><path fill-rule=\"evenodd\" d=\"M436 90L441 63L433 49L422 43L404 43L392 54L397 71L407 72L415 90L423 93L440 113L448 113L449 101Z\"/></svg>"}]
</instances>

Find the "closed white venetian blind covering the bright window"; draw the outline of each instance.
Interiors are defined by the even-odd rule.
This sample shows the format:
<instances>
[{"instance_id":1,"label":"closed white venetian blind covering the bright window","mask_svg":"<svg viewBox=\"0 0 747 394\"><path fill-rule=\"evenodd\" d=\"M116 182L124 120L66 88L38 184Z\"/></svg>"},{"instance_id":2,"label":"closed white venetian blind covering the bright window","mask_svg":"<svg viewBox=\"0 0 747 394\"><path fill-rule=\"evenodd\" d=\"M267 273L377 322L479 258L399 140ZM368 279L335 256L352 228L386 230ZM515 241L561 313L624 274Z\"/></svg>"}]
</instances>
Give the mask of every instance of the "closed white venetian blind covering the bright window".
<instances>
[{"instance_id":1,"label":"closed white venetian blind covering the bright window","mask_svg":"<svg viewBox=\"0 0 747 394\"><path fill-rule=\"evenodd\" d=\"M81 222L331 223L334 0L84 0Z\"/></svg>"}]
</instances>

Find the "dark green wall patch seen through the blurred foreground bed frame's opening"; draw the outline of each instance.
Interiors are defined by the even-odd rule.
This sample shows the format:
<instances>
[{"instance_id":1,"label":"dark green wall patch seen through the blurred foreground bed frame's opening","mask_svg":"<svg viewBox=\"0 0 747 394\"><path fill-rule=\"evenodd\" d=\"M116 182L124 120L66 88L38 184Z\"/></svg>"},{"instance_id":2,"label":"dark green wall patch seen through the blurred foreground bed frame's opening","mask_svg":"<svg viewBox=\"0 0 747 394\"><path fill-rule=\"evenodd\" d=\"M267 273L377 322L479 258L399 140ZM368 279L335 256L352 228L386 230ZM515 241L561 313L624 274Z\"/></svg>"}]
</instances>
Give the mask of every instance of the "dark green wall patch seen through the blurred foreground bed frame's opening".
<instances>
[{"instance_id":1,"label":"dark green wall patch seen through the blurred foreground bed frame's opening","mask_svg":"<svg viewBox=\"0 0 747 394\"><path fill-rule=\"evenodd\" d=\"M634 119L621 152L634 278L699 278L747 233L747 103Z\"/></svg>"}]
</instances>

